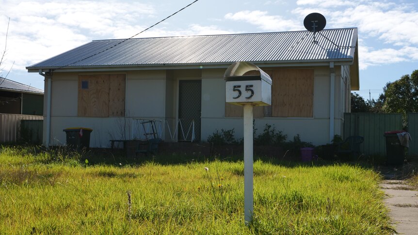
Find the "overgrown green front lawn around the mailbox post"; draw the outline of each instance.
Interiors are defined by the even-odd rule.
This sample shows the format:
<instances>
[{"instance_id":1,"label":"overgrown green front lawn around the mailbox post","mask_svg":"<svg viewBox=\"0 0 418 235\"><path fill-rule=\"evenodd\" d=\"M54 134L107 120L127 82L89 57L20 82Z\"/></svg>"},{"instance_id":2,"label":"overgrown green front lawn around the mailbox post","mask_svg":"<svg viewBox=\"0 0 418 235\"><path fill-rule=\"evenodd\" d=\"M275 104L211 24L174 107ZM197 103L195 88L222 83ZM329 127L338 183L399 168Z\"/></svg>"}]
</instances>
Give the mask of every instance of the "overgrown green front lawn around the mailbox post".
<instances>
[{"instance_id":1,"label":"overgrown green front lawn around the mailbox post","mask_svg":"<svg viewBox=\"0 0 418 235\"><path fill-rule=\"evenodd\" d=\"M0 234L393 233L381 177L361 167L257 160L247 227L241 161L86 164L52 155L0 149Z\"/></svg>"}]
</instances>

